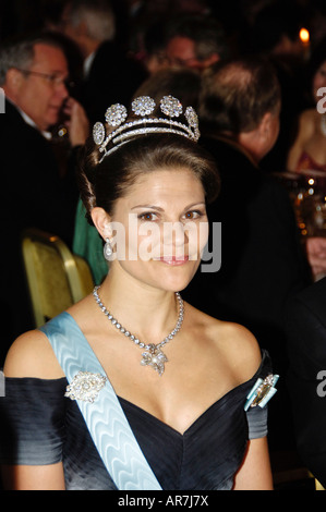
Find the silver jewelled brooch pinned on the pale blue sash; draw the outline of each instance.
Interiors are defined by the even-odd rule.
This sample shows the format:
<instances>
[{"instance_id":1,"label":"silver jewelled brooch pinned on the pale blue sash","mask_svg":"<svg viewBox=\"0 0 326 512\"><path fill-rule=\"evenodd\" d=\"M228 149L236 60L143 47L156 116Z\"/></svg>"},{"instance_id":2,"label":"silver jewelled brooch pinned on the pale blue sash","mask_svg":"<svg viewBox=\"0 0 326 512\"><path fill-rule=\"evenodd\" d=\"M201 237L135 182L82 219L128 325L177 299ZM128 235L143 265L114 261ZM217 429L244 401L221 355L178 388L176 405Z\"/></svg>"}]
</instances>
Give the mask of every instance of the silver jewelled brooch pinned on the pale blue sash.
<instances>
[{"instance_id":1,"label":"silver jewelled brooch pinned on the pale blue sash","mask_svg":"<svg viewBox=\"0 0 326 512\"><path fill-rule=\"evenodd\" d=\"M79 371L71 383L67 386L64 397L71 400L82 400L93 403L99 391L105 387L107 378L100 374Z\"/></svg>"}]
</instances>

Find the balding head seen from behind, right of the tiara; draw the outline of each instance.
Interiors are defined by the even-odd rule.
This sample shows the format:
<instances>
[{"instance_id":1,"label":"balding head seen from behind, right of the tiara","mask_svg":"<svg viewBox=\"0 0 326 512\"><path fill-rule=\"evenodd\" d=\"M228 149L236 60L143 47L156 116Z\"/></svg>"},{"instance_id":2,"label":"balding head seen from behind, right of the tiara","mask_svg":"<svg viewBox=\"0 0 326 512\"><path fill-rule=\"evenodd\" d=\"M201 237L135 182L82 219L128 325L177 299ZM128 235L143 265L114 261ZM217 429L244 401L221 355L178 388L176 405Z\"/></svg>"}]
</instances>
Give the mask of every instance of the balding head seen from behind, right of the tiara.
<instances>
[{"instance_id":1,"label":"balding head seen from behind, right of the tiara","mask_svg":"<svg viewBox=\"0 0 326 512\"><path fill-rule=\"evenodd\" d=\"M267 61L219 62L203 78L202 132L232 138L259 161L278 137L280 98L278 78Z\"/></svg>"}]
</instances>

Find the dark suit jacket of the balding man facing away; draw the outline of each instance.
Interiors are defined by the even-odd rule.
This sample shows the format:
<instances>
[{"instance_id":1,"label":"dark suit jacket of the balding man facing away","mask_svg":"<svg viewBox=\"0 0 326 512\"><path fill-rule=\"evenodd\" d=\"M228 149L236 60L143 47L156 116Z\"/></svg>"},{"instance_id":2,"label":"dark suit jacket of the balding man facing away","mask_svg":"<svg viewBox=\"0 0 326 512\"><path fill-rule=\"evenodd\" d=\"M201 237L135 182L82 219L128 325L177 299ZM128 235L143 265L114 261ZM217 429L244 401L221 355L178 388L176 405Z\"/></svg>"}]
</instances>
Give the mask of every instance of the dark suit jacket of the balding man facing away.
<instances>
[{"instance_id":1,"label":"dark suit jacket of the balding man facing away","mask_svg":"<svg viewBox=\"0 0 326 512\"><path fill-rule=\"evenodd\" d=\"M220 195L208 207L209 222L221 222L221 269L200 269L183 296L214 317L247 327L281 371L285 304L310 282L292 206L287 192L234 145L218 138L201 144L221 176Z\"/></svg>"}]
</instances>

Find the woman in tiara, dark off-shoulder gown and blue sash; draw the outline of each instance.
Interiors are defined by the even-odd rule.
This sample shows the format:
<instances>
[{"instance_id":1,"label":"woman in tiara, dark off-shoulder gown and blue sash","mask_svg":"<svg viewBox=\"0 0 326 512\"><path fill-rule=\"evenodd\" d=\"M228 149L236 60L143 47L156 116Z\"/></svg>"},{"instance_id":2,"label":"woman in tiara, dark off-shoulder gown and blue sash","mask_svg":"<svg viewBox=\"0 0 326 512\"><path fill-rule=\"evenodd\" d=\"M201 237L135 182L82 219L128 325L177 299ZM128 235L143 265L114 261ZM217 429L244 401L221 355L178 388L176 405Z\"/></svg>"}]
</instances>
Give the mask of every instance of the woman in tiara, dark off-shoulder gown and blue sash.
<instances>
[{"instance_id":1,"label":"woman in tiara, dark off-shoulder gown and blue sash","mask_svg":"<svg viewBox=\"0 0 326 512\"><path fill-rule=\"evenodd\" d=\"M116 105L106 113L109 126L94 127L81 194L110 271L95 296L9 352L2 407L14 439L1 455L9 488L271 488L266 410L246 404L244 411L257 378L270 374L268 356L262 359L243 327L213 319L176 294L200 265L206 202L218 180L195 144L193 109L181 123L173 119L182 110L176 98L160 106L166 120L150 118L153 100L143 97L131 118ZM116 426L114 451L108 430ZM102 448L113 452L107 456ZM145 483L135 484L145 473Z\"/></svg>"}]
</instances>

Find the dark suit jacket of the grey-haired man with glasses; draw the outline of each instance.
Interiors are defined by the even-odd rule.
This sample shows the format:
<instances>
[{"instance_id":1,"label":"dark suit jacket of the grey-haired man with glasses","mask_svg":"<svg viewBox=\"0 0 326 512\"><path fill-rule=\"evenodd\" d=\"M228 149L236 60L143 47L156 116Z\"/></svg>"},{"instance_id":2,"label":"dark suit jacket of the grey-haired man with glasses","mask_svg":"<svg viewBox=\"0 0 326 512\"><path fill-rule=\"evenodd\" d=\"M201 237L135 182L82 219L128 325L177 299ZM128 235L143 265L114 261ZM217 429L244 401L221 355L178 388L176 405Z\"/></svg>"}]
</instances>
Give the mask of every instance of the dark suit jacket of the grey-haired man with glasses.
<instances>
[{"instance_id":1,"label":"dark suit jacket of the grey-haired man with glasses","mask_svg":"<svg viewBox=\"0 0 326 512\"><path fill-rule=\"evenodd\" d=\"M31 329L29 303L21 259L21 233L38 228L72 242L77 188L74 169L60 180L50 143L5 103L0 114L1 256L0 315L7 332L0 352ZM0 353L1 355L1 353Z\"/></svg>"}]
</instances>

